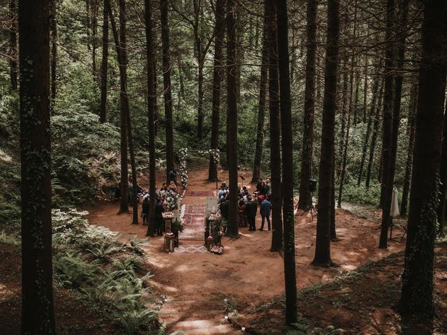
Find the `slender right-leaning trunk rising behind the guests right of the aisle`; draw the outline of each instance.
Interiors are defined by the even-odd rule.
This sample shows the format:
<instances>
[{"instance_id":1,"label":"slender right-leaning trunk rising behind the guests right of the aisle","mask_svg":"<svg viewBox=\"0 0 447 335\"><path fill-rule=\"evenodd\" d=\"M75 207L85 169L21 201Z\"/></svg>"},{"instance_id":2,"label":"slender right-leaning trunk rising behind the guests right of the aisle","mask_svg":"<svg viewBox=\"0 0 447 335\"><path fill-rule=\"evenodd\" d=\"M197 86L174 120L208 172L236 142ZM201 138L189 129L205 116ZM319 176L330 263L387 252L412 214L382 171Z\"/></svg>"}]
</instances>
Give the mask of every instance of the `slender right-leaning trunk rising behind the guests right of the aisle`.
<instances>
[{"instance_id":1,"label":"slender right-leaning trunk rising behind the guests right of the aisle","mask_svg":"<svg viewBox=\"0 0 447 335\"><path fill-rule=\"evenodd\" d=\"M261 80L259 81L259 105L258 105L258 128L256 131L256 149L254 154L252 183L257 183L261 178L261 161L263 158L264 145L264 121L265 121L265 96L268 76L268 23L267 23L267 1L264 6L263 27L263 54L261 60Z\"/></svg>"}]
</instances>

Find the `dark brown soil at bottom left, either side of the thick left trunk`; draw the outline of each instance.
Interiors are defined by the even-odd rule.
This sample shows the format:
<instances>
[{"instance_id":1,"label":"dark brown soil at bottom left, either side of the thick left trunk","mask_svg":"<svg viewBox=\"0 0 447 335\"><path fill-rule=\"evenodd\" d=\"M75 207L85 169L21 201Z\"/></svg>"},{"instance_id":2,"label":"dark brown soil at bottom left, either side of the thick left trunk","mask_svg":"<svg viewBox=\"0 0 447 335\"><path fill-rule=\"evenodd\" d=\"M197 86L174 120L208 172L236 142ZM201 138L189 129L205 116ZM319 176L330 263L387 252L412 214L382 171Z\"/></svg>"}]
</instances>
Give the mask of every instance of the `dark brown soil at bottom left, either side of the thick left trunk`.
<instances>
[{"instance_id":1,"label":"dark brown soil at bottom left, either side of the thick left trunk","mask_svg":"<svg viewBox=\"0 0 447 335\"><path fill-rule=\"evenodd\" d=\"M0 334L19 335L22 310L22 258L20 249L0 243ZM73 292L54 285L54 313L58 334L119 335L109 320L89 310Z\"/></svg>"}]
</instances>

